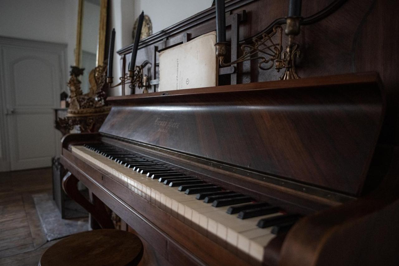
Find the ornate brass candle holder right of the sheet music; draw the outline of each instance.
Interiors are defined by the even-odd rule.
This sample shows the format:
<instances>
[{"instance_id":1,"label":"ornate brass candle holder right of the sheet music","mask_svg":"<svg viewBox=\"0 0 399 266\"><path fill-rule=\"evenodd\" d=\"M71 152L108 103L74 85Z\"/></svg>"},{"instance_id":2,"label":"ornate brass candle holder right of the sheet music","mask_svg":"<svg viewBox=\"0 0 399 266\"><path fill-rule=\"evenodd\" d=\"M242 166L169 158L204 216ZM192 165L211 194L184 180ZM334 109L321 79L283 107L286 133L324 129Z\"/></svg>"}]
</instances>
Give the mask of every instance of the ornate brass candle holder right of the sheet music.
<instances>
[{"instance_id":1,"label":"ornate brass candle holder right of the sheet music","mask_svg":"<svg viewBox=\"0 0 399 266\"><path fill-rule=\"evenodd\" d=\"M241 46L242 55L231 62L225 62L228 43L215 44L220 66L227 67L248 60L259 60L258 67L262 70L269 70L273 66L278 72L284 69L284 73L279 79L299 78L295 70L295 58L300 56L300 50L298 49L299 45L294 43L294 36L300 32L301 20L301 17L286 18L285 34L288 36L288 45L285 51L282 50L282 27L280 25L274 26L273 31L269 34L263 33L262 38L254 38L251 44L243 44ZM275 35L279 36L278 42L272 39Z\"/></svg>"}]
</instances>

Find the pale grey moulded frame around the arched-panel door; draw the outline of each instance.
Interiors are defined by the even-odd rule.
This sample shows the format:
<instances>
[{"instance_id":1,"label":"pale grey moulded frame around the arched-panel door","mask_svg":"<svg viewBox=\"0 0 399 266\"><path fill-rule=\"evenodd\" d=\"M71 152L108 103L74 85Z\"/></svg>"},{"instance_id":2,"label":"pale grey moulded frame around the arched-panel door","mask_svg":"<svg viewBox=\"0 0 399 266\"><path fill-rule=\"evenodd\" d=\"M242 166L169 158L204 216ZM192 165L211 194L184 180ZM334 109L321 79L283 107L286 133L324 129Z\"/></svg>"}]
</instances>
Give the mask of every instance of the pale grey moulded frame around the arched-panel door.
<instances>
[{"instance_id":1,"label":"pale grey moulded frame around the arched-panel door","mask_svg":"<svg viewBox=\"0 0 399 266\"><path fill-rule=\"evenodd\" d=\"M54 87L53 107L59 107L59 97L57 97L63 90L67 90L67 44L55 42L43 42L28 39L19 39L0 36L0 172L10 171L11 169L11 152L10 152L10 136L9 129L6 128L7 123L7 93L6 93L6 74L4 66L4 48L18 47L21 49L29 48L44 52L51 52L57 54L59 58L59 85ZM55 130L55 129L54 129ZM55 130L55 141L60 138L60 134ZM60 151L59 141L55 147L55 154L58 155Z\"/></svg>"}]
</instances>

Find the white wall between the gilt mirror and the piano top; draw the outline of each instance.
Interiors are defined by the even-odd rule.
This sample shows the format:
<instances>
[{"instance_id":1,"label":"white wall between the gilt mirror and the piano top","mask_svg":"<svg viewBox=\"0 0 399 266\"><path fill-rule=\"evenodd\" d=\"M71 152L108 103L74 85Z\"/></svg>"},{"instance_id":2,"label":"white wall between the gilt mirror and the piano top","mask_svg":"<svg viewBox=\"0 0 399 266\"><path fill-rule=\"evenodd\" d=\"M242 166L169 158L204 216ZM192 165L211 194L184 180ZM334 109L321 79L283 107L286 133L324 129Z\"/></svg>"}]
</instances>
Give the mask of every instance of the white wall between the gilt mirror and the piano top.
<instances>
[{"instance_id":1,"label":"white wall between the gilt mirror and the piano top","mask_svg":"<svg viewBox=\"0 0 399 266\"><path fill-rule=\"evenodd\" d=\"M152 22L152 32L168 28L211 6L211 0L111 0L111 28L115 28L115 54L113 62L114 84L121 76L117 50L132 44L133 25L144 10ZM133 14L133 16L132 16ZM111 95L121 95L120 88L110 91Z\"/></svg>"}]
</instances>

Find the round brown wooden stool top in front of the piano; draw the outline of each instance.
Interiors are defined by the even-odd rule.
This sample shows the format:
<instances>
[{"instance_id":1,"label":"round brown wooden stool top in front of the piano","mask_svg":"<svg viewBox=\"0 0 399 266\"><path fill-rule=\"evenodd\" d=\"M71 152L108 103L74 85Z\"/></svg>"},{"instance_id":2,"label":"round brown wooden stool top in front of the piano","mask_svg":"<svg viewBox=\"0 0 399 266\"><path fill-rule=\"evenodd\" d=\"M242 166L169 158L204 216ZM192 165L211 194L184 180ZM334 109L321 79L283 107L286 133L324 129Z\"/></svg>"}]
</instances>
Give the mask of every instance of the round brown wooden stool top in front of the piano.
<instances>
[{"instance_id":1,"label":"round brown wooden stool top in front of the piano","mask_svg":"<svg viewBox=\"0 0 399 266\"><path fill-rule=\"evenodd\" d=\"M137 265L143 244L135 234L100 229L73 234L49 247L39 266Z\"/></svg>"}]
</instances>

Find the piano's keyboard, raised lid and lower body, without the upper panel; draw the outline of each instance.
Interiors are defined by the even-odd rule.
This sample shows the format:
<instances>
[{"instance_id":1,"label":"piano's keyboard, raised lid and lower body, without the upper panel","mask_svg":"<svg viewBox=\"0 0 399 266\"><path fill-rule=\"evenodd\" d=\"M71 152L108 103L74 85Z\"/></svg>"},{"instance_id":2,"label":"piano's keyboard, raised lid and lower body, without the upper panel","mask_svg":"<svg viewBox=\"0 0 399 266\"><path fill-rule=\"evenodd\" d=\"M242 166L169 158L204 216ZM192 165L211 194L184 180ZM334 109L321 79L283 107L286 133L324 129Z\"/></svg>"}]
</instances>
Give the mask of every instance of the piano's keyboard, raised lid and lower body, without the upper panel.
<instances>
[{"instance_id":1,"label":"piano's keyboard, raised lid and lower body, without the upper panel","mask_svg":"<svg viewBox=\"0 0 399 266\"><path fill-rule=\"evenodd\" d=\"M81 181L144 242L143 265L397 265L397 151L377 73L109 97L66 135ZM83 205L112 227L101 204ZM126 248L129 248L126 246Z\"/></svg>"}]
</instances>

